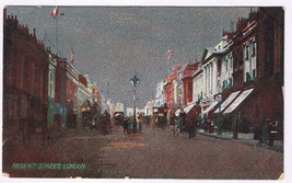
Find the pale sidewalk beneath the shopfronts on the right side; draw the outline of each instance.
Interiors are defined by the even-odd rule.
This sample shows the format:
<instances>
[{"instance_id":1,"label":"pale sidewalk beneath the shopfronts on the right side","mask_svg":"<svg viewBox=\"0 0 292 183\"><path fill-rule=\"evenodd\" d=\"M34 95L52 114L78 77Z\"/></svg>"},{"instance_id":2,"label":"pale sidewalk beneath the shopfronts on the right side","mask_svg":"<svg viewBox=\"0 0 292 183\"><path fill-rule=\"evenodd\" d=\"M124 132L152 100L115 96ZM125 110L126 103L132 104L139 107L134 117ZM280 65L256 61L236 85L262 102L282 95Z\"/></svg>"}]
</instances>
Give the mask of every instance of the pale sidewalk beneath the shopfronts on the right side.
<instances>
[{"instance_id":1,"label":"pale sidewalk beneath the shopfronts on the right side","mask_svg":"<svg viewBox=\"0 0 292 183\"><path fill-rule=\"evenodd\" d=\"M257 147L268 148L271 150L283 152L282 140L275 140L273 146L270 147L268 145L259 144L258 140L254 140L254 134L238 133L237 139L233 139L233 134L231 131L224 131L222 133L222 135L217 135L217 133L205 133L202 129L198 129L197 133L205 135L205 136L209 136L209 137L214 137L214 138L220 138L220 139L225 139L225 140L234 140L234 141L243 142L249 146L257 146Z\"/></svg>"}]
</instances>

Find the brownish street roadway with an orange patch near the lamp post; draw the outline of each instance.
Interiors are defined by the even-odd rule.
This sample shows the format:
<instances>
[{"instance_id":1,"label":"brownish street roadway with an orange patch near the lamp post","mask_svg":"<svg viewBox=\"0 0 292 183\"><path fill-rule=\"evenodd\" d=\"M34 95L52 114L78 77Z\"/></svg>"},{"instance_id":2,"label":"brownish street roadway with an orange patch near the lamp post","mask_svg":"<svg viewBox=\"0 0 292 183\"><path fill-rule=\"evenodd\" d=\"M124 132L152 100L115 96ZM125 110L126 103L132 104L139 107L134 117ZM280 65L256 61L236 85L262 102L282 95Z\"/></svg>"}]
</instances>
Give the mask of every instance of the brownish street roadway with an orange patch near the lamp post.
<instances>
[{"instance_id":1,"label":"brownish street roadway with an orange patch near the lamp post","mask_svg":"<svg viewBox=\"0 0 292 183\"><path fill-rule=\"evenodd\" d=\"M34 145L3 152L3 172L13 178L106 179L256 179L276 180L283 172L283 153L198 134L143 127L125 137L121 127L110 135L68 135L51 146ZM8 148L8 147L5 147ZM13 163L90 163L90 170L13 170Z\"/></svg>"}]
</instances>

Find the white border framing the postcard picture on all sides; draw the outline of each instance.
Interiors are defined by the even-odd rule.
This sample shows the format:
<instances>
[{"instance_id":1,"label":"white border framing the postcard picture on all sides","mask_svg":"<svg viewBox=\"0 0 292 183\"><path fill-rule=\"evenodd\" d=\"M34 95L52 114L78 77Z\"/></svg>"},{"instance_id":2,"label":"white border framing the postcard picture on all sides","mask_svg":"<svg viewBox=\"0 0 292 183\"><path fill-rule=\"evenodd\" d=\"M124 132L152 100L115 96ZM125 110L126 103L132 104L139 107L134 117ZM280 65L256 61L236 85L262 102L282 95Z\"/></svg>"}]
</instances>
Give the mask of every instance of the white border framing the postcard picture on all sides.
<instances>
[{"instance_id":1,"label":"white border framing the postcard picture on all sides","mask_svg":"<svg viewBox=\"0 0 292 183\"><path fill-rule=\"evenodd\" d=\"M291 13L291 2L288 0L266 0L266 1L259 1L259 0L82 0L82 1L73 1L73 0L1 0L0 1L1 9L1 28L0 28L0 60L3 59L2 50L3 50L3 7L4 5L103 5L103 7L284 7L285 11L285 36L284 36L284 78L285 78L285 87L284 87L284 180L281 182L290 182L292 181L292 172L291 172L291 131L292 129L292 121L291 115L289 115L289 111L291 108L291 75L290 69L292 68L292 59L290 56L290 53L292 53L290 43L292 43L291 39L291 21L289 19L292 18ZM0 73L2 76L2 61L1 61L1 70ZM0 80L0 88L2 91L2 79ZM0 92L0 98L2 100L2 92ZM2 124L2 102L0 103L0 114L1 114L1 124ZM2 125L1 125L2 126ZM0 131L0 135L2 136L2 130ZM0 141L2 141L2 138L0 138ZM2 151L2 150L1 150ZM2 155L2 153L1 153ZM2 156L1 156L1 172L2 172ZM84 182L84 180L68 180L68 179L4 179L3 176L0 178L0 182ZM107 179L98 179L98 180L85 180L85 182L96 182L103 183L103 182L137 182L137 180L107 180ZM246 182L246 181L211 181L211 180L139 180L139 182ZM248 182L267 182L267 181L248 181Z\"/></svg>"}]
</instances>

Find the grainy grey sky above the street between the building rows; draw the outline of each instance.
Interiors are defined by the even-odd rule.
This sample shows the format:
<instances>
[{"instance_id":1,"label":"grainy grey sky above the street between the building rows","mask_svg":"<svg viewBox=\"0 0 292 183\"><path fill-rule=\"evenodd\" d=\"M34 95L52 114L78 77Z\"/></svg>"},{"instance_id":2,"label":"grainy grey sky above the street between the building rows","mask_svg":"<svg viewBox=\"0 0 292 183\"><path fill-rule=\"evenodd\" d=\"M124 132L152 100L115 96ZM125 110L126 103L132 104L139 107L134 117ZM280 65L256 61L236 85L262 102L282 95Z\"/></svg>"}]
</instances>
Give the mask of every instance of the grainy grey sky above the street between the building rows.
<instances>
[{"instance_id":1,"label":"grainy grey sky above the street between the building rows","mask_svg":"<svg viewBox=\"0 0 292 183\"><path fill-rule=\"evenodd\" d=\"M55 7L8 7L30 32L56 54ZM215 46L223 30L235 30L238 18L250 8L171 7L60 7L59 56L71 58L83 75L89 73L98 90L113 103L132 105L130 79L140 79L138 107L154 99L156 83L166 78L166 54L171 46L176 64L199 61L205 47ZM60 15L63 13L63 15ZM233 22L233 23L232 23ZM233 26L232 26L233 25Z\"/></svg>"}]
</instances>

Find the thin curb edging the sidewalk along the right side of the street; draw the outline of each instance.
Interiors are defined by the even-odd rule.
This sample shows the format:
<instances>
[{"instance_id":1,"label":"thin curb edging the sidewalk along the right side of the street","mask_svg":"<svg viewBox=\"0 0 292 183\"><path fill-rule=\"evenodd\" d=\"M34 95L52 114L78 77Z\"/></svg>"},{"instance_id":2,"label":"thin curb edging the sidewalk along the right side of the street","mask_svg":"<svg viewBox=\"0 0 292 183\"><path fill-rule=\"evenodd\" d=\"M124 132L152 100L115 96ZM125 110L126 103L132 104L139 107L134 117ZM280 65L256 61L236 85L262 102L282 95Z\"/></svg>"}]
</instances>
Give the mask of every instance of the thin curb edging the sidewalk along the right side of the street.
<instances>
[{"instance_id":1,"label":"thin curb edging the sidewalk along the right side of the street","mask_svg":"<svg viewBox=\"0 0 292 183\"><path fill-rule=\"evenodd\" d=\"M203 135L203 136L208 136L208 137L218 138L218 139L223 139L223 140L236 141L236 142L241 142L241 144L253 146L253 147L267 148L267 149L275 150L275 151L278 151L278 152L283 152L283 148L281 148L281 147L275 147L275 146L273 147L270 147L270 146L267 146L267 145L250 144L250 142L247 142L247 141L244 141L244 140L240 140L240 139L232 139L232 138L227 138L227 137L220 137L220 136L217 136L217 135L211 135L211 134L206 134L206 133L200 133L200 131L197 131L197 134L200 134L200 135Z\"/></svg>"}]
</instances>

